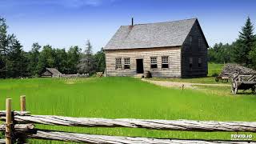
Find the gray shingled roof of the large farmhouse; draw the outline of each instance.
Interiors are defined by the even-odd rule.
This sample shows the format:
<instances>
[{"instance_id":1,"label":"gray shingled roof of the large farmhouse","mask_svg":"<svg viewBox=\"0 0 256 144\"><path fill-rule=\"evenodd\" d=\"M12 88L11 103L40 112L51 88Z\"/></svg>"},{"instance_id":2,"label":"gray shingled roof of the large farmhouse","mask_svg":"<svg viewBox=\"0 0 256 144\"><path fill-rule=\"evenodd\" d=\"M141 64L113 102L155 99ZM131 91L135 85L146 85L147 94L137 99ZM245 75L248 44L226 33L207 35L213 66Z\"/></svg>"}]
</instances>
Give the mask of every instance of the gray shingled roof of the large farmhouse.
<instances>
[{"instance_id":1,"label":"gray shingled roof of the large farmhouse","mask_svg":"<svg viewBox=\"0 0 256 144\"><path fill-rule=\"evenodd\" d=\"M196 20L120 26L104 50L182 46Z\"/></svg>"}]
</instances>

